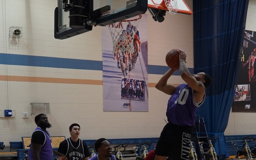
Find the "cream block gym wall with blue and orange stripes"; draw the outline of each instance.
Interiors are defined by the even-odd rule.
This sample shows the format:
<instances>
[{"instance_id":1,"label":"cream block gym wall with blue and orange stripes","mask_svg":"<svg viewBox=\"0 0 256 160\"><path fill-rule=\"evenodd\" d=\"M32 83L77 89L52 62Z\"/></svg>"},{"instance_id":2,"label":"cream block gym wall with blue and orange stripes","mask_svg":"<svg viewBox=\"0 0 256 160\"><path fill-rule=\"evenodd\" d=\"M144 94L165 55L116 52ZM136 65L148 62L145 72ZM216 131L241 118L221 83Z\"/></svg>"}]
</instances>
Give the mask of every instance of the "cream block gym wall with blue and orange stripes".
<instances>
[{"instance_id":1,"label":"cream block gym wall with blue and orange stripes","mask_svg":"<svg viewBox=\"0 0 256 160\"><path fill-rule=\"evenodd\" d=\"M185 1L192 9L192 1ZM148 112L104 112L102 70L97 69L102 67L102 28L96 26L91 32L57 40L53 36L56 6L57 1L52 0L4 0L0 4L0 110L15 110L14 118L0 118L0 141L8 145L32 134L36 127L35 115L30 115L32 102L50 104L47 116L52 136L69 137L70 124L79 123L81 139L159 137L166 124L169 99L154 88L162 75L148 75ZM165 20L158 23L146 14L148 65L165 66L166 53L180 48L187 53L187 66L193 68L192 15L166 13ZM16 41L9 38L11 26L23 27L23 36ZM67 58L74 64L65 63ZM76 69L77 60L93 62L96 67ZM169 82L182 81L173 76ZM22 118L22 113L29 113L29 118ZM250 122L251 117L244 114L249 113L231 113L230 121L236 117L236 121ZM241 134L237 130L242 126L229 123L227 134ZM252 127L243 134L251 132Z\"/></svg>"}]
</instances>

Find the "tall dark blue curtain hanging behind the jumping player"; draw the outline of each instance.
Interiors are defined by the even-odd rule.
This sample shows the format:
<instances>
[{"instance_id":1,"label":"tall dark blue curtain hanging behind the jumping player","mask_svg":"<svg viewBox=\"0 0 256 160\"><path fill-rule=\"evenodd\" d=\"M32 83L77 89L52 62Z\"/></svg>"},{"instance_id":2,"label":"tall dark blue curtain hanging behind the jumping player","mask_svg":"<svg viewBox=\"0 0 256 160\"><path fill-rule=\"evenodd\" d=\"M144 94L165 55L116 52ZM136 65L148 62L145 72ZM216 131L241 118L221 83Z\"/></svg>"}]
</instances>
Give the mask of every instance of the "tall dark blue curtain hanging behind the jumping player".
<instances>
[{"instance_id":1,"label":"tall dark blue curtain hanging behind the jumping player","mask_svg":"<svg viewBox=\"0 0 256 160\"><path fill-rule=\"evenodd\" d=\"M193 0L194 73L212 77L197 114L204 118L208 137L218 137L217 155L229 157L224 131L234 97L249 0Z\"/></svg>"}]
</instances>

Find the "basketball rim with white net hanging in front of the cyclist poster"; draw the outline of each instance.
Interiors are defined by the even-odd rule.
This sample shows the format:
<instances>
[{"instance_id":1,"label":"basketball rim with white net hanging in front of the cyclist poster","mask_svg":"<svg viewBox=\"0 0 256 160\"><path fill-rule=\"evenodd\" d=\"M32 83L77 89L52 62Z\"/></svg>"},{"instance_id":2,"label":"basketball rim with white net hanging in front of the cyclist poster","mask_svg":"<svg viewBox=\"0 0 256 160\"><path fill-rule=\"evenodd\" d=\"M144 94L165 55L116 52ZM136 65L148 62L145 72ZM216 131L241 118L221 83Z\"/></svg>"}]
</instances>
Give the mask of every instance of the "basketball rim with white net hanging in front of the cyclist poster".
<instances>
[{"instance_id":1,"label":"basketball rim with white net hanging in front of the cyclist poster","mask_svg":"<svg viewBox=\"0 0 256 160\"><path fill-rule=\"evenodd\" d=\"M113 41L113 53L117 52L133 52L134 35L138 32L137 27L142 15L138 15L135 19L122 20L108 25ZM125 28L124 28L125 27Z\"/></svg>"}]
</instances>

